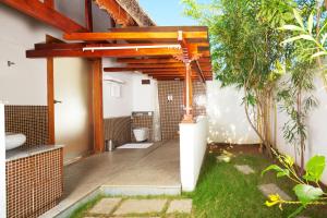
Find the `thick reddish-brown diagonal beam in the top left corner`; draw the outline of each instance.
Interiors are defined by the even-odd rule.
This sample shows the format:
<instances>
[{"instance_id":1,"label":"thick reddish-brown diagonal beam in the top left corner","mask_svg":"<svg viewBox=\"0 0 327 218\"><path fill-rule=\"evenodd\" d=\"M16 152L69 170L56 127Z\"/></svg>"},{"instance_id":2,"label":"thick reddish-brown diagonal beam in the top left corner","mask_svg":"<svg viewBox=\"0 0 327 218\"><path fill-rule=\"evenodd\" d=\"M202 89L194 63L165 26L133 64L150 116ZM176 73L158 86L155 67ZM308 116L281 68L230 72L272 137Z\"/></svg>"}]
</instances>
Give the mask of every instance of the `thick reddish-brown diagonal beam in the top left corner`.
<instances>
[{"instance_id":1,"label":"thick reddish-brown diagonal beam in the top left corner","mask_svg":"<svg viewBox=\"0 0 327 218\"><path fill-rule=\"evenodd\" d=\"M64 33L86 32L87 29L74 22L73 20L62 15L58 11L49 7L49 3L43 3L38 0L0 0L29 16L33 16L46 24L55 26Z\"/></svg>"}]
</instances>

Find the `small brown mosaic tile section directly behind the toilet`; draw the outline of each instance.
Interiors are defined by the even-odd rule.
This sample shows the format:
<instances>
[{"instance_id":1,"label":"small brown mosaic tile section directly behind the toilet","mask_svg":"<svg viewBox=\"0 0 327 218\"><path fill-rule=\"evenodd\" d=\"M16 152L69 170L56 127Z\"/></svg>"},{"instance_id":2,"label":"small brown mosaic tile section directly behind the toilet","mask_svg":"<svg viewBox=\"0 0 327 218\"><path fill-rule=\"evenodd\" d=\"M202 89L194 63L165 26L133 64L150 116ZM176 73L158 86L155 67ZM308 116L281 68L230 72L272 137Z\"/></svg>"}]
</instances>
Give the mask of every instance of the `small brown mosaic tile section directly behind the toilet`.
<instances>
[{"instance_id":1,"label":"small brown mosaic tile section directly behind the toilet","mask_svg":"<svg viewBox=\"0 0 327 218\"><path fill-rule=\"evenodd\" d=\"M149 129L149 142L153 141L153 125L154 125L154 116L153 112L133 112L132 113L132 131L131 138L132 142L136 142L133 130L136 128L148 128Z\"/></svg>"}]
</instances>

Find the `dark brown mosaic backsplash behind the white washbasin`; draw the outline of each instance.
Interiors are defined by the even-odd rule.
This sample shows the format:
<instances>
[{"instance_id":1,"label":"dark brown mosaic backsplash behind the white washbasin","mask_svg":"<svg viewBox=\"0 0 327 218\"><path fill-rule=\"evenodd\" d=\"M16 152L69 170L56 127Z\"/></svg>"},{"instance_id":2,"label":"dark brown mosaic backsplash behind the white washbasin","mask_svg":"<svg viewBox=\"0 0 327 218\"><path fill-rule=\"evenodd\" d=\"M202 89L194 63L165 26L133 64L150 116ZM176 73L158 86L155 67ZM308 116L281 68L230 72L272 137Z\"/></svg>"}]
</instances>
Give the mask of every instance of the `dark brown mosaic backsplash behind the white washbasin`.
<instances>
[{"instance_id":1,"label":"dark brown mosaic backsplash behind the white washbasin","mask_svg":"<svg viewBox=\"0 0 327 218\"><path fill-rule=\"evenodd\" d=\"M4 114L5 132L26 135L26 143L23 147L48 144L47 106L5 106Z\"/></svg>"}]
</instances>

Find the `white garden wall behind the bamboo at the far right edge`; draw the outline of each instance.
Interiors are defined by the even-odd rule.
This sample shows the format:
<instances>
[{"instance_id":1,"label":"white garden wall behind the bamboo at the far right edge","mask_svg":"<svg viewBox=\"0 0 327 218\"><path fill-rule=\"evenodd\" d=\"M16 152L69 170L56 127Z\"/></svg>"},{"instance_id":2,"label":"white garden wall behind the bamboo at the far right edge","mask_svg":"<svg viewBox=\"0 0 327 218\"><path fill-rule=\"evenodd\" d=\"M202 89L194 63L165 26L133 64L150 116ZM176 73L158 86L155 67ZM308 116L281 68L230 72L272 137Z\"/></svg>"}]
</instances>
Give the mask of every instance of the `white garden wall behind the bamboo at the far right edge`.
<instances>
[{"instance_id":1,"label":"white garden wall behind the bamboo at the far right edge","mask_svg":"<svg viewBox=\"0 0 327 218\"><path fill-rule=\"evenodd\" d=\"M315 85L314 95L318 99L319 106L311 112L307 120L308 134L305 161L315 155L323 155L327 158L327 89L319 77L315 78ZM289 145L282 136L282 126L287 121L288 117L279 111L277 116L277 146L279 152L295 157L294 147ZM299 156L296 162L300 165ZM323 182L327 184L327 169L324 172Z\"/></svg>"}]
</instances>

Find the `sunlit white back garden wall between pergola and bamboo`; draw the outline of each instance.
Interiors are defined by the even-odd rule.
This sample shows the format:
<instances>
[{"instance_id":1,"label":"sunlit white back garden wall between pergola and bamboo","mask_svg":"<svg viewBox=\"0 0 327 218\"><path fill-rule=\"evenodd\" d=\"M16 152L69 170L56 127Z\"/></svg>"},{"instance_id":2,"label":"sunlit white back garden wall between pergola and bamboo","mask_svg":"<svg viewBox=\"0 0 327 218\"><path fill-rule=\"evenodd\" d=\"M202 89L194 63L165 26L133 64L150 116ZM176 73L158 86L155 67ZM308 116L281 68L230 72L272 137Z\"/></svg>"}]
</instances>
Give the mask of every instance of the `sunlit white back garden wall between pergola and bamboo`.
<instances>
[{"instance_id":1,"label":"sunlit white back garden wall between pergola and bamboo","mask_svg":"<svg viewBox=\"0 0 327 218\"><path fill-rule=\"evenodd\" d=\"M207 82L209 142L258 143L255 132L246 120L242 98L242 92L237 88L221 88L217 81Z\"/></svg>"}]
</instances>

